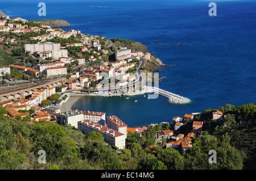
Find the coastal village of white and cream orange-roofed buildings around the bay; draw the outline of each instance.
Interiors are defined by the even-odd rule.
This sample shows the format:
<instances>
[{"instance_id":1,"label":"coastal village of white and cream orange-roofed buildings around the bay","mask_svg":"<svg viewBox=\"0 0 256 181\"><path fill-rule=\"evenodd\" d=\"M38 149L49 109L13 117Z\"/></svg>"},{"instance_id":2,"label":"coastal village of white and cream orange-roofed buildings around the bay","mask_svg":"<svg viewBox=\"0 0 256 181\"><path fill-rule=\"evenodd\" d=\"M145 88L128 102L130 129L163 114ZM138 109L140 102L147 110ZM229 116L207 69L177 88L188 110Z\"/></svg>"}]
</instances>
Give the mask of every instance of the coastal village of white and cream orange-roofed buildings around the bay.
<instances>
[{"instance_id":1,"label":"coastal village of white and cream orange-roofed buildings around the bay","mask_svg":"<svg viewBox=\"0 0 256 181\"><path fill-rule=\"evenodd\" d=\"M143 132L160 125L154 135L155 143L146 147L153 153L157 151L155 148L158 145L162 145L164 149L174 148L185 153L192 148L191 141L203 134L203 122L193 119L195 113L176 116L164 123L130 128L121 118L106 112L61 110L61 104L67 103L71 92L82 94L83 91L89 91L92 94L111 95L111 92L94 91L95 87L101 86L100 82L104 78L108 78L108 81L115 78L118 82L114 83L119 86L135 82L134 74L138 70L144 70L146 64L142 62L149 61L151 53L118 47L114 52L114 61L109 61L113 41L104 36L84 35L78 30L63 31L7 15L0 17L0 32L0 45L23 45L24 52L21 53L36 60L36 64L31 66L13 62L0 67L0 107L6 116L32 123L52 121L54 124L69 124L84 134L100 132L106 144L118 149L126 148L126 138L130 134L142 136ZM22 81L18 81L19 75ZM60 78L67 81L24 91L23 94L14 90L15 94L7 95L16 85L29 87L31 80L34 80L32 84L35 85L36 81L47 84L48 81ZM214 120L222 116L224 115L221 111L212 113ZM192 123L188 133L180 131L186 121Z\"/></svg>"}]
</instances>

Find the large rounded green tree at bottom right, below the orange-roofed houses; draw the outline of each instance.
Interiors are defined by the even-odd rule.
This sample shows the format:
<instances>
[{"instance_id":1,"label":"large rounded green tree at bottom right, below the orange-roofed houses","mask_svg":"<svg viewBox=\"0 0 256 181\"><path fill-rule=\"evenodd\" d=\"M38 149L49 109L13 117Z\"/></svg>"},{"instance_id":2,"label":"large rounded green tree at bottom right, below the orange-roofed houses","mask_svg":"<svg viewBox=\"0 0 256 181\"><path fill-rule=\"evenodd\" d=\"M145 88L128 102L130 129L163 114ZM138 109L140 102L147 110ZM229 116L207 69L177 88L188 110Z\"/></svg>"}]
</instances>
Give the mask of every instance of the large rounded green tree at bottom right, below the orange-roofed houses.
<instances>
[{"instance_id":1,"label":"large rounded green tree at bottom right, below the orange-roofed houses","mask_svg":"<svg viewBox=\"0 0 256 181\"><path fill-rule=\"evenodd\" d=\"M217 163L209 163L209 150L217 153ZM230 146L228 134L218 137L205 135L196 138L193 147L185 153L185 169L242 169L243 160L240 152ZM200 164L199 164L200 163Z\"/></svg>"}]
</instances>

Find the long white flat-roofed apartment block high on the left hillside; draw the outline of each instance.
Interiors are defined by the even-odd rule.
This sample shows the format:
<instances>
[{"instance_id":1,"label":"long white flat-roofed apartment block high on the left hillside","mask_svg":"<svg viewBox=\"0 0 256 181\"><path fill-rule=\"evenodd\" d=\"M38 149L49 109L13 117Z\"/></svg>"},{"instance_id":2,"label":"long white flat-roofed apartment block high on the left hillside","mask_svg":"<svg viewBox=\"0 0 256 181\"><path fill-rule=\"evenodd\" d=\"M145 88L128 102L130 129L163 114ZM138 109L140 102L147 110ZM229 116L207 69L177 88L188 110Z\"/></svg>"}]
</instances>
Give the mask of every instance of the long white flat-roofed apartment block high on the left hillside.
<instances>
[{"instance_id":1,"label":"long white flat-roofed apartment block high on the left hillside","mask_svg":"<svg viewBox=\"0 0 256 181\"><path fill-rule=\"evenodd\" d=\"M51 52L60 49L60 43L25 44L26 52Z\"/></svg>"}]
</instances>

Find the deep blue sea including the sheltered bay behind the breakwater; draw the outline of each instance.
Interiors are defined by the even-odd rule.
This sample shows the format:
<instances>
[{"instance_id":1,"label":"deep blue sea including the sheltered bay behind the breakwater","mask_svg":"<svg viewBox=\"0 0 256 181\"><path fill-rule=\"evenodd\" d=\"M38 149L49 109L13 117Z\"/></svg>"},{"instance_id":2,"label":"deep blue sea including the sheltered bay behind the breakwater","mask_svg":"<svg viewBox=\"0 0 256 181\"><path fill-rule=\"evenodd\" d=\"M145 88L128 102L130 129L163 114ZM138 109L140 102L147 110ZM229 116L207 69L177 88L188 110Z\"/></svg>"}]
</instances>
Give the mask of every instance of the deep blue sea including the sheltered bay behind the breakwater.
<instances>
[{"instance_id":1,"label":"deep blue sea including the sheltered bay behind the breakwater","mask_svg":"<svg viewBox=\"0 0 256 181\"><path fill-rule=\"evenodd\" d=\"M137 127L227 103L256 102L256 1L214 1L217 16L208 15L212 1L47 0L47 16L38 16L39 2L1 0L0 10L28 20L64 19L72 24L64 30L139 41L164 64L176 65L159 72L166 77L160 88L192 100L174 105L163 96L86 97L73 108L104 111Z\"/></svg>"}]
</instances>

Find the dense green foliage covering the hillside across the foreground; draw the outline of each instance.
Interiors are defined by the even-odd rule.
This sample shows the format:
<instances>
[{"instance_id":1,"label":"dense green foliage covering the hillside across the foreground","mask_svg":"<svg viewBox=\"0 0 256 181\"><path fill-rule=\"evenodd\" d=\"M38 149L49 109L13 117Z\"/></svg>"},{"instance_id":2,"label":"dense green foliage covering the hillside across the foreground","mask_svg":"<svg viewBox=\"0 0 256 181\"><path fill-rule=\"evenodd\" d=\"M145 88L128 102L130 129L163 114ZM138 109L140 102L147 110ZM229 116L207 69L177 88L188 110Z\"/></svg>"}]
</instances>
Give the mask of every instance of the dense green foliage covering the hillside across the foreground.
<instances>
[{"instance_id":1,"label":"dense green foliage covering the hillside across the foreground","mask_svg":"<svg viewBox=\"0 0 256 181\"><path fill-rule=\"evenodd\" d=\"M214 128L204 117L209 110L196 116L205 119L204 134L181 154L155 142L158 132L170 125L148 127L142 136L129 133L126 149L119 150L105 144L101 133L85 136L70 125L11 119L1 109L0 169L255 169L255 104L227 106L222 111L233 116L212 124ZM147 149L152 144L155 152ZM39 150L46 151L46 164L38 163ZM208 162L209 150L216 150L216 164Z\"/></svg>"}]
</instances>

